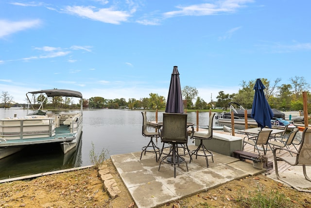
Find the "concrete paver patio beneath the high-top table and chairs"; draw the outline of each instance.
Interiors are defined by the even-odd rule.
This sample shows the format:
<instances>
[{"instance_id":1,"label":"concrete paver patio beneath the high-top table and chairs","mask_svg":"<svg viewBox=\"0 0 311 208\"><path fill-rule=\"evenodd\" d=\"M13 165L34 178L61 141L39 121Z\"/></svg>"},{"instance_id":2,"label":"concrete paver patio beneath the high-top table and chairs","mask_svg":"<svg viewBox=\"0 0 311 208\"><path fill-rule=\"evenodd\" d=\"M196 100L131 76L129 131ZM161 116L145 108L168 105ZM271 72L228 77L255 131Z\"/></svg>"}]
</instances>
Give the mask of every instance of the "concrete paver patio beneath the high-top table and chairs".
<instances>
[{"instance_id":1,"label":"concrete paver patio beneath the high-top table and chairs","mask_svg":"<svg viewBox=\"0 0 311 208\"><path fill-rule=\"evenodd\" d=\"M196 146L190 145L194 150ZM176 166L174 178L173 166L155 161L154 153L146 153L141 160L141 152L112 155L111 159L118 170L121 179L138 208L151 208L164 205L195 193L212 189L226 182L240 179L249 175L265 172L265 169L253 168L251 163L240 161L237 158L214 153L214 163L209 157L209 168L206 167L204 157L185 156L188 163Z\"/></svg>"}]
</instances>

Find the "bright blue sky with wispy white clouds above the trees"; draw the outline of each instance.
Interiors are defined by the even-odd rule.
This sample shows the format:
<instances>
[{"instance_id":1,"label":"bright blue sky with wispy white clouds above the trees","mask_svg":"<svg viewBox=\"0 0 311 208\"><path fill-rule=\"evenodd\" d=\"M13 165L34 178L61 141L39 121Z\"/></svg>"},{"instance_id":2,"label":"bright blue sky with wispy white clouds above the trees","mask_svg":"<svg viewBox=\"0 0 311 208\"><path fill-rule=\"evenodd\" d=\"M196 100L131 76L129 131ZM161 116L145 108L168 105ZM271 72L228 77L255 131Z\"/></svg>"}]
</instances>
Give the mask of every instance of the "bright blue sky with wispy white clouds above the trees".
<instances>
[{"instance_id":1,"label":"bright blue sky with wispy white clouds above the trees","mask_svg":"<svg viewBox=\"0 0 311 208\"><path fill-rule=\"evenodd\" d=\"M1 0L0 92L84 98L167 97L181 87L209 102L242 80L311 83L309 0Z\"/></svg>"}]
</instances>

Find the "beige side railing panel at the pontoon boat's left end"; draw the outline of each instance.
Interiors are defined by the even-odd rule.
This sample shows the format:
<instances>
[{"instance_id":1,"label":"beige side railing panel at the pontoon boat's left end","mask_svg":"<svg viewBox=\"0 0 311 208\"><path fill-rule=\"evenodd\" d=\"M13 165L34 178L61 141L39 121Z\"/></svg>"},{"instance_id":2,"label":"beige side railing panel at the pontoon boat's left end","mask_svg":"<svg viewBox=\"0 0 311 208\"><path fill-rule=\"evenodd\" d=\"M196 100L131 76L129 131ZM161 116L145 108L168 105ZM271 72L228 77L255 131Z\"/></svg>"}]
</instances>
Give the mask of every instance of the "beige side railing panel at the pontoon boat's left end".
<instances>
[{"instance_id":1,"label":"beige side railing panel at the pontoon boat's left end","mask_svg":"<svg viewBox=\"0 0 311 208\"><path fill-rule=\"evenodd\" d=\"M52 117L14 117L0 119L0 138L5 140L44 138L55 135Z\"/></svg>"}]
</instances>

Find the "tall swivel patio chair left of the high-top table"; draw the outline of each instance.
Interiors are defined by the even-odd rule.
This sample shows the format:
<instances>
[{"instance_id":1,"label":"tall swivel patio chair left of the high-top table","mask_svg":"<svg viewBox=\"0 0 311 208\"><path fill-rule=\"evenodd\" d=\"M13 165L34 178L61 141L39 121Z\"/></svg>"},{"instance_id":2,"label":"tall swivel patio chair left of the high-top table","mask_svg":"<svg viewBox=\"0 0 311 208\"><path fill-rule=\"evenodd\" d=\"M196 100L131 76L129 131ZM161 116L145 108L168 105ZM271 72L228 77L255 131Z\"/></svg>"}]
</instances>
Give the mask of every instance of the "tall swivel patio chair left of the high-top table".
<instances>
[{"instance_id":1,"label":"tall swivel patio chair left of the high-top table","mask_svg":"<svg viewBox=\"0 0 311 208\"><path fill-rule=\"evenodd\" d=\"M155 153L155 161L157 162L157 153L160 153L160 149L155 145L153 138L159 137L159 132L155 129L155 132L148 132L148 125L147 125L147 115L146 112L141 112L142 114L142 135L146 137L150 137L150 141L147 146L144 146L141 150L140 160L142 157L142 153L144 155L146 152L154 152Z\"/></svg>"}]
</instances>

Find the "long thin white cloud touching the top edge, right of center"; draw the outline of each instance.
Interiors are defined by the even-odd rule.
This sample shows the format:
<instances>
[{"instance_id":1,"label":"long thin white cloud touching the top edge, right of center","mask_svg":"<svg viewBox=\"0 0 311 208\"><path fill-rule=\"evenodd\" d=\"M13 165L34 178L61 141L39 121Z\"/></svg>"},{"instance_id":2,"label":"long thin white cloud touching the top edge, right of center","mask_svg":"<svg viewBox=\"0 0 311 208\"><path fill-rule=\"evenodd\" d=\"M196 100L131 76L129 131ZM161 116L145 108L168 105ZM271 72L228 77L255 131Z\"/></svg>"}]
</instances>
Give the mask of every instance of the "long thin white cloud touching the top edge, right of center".
<instances>
[{"instance_id":1,"label":"long thin white cloud touching the top edge, right of center","mask_svg":"<svg viewBox=\"0 0 311 208\"><path fill-rule=\"evenodd\" d=\"M244 6L245 3L253 2L253 0L220 0L215 3L201 3L190 6L176 6L177 11L164 13L167 18L176 16L206 16L217 15L220 13L232 13L238 8Z\"/></svg>"}]
</instances>

